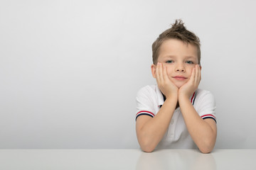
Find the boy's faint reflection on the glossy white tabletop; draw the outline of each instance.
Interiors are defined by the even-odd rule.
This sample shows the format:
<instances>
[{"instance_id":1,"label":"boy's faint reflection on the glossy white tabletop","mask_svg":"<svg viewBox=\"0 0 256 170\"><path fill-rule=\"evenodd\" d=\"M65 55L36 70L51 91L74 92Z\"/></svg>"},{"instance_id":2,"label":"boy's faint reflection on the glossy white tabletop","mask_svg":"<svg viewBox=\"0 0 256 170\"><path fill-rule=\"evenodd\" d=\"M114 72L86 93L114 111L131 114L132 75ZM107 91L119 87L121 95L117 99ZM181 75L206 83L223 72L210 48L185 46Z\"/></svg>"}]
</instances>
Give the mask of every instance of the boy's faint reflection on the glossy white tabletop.
<instances>
[{"instance_id":1,"label":"boy's faint reflection on the glossy white tabletop","mask_svg":"<svg viewBox=\"0 0 256 170\"><path fill-rule=\"evenodd\" d=\"M201 154L198 150L159 150L143 152L136 169L216 169L212 154Z\"/></svg>"}]
</instances>

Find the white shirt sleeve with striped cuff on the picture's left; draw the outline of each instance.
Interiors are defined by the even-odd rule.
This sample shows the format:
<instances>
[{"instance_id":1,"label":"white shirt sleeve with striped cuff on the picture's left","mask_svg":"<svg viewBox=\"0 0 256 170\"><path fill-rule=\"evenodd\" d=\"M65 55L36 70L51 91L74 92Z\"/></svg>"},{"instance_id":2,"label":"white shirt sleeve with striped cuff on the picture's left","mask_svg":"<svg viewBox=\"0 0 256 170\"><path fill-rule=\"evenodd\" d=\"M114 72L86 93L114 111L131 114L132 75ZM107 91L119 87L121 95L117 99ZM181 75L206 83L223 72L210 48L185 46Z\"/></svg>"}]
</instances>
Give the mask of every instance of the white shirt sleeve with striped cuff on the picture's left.
<instances>
[{"instance_id":1,"label":"white shirt sleeve with striped cuff on the picture's left","mask_svg":"<svg viewBox=\"0 0 256 170\"><path fill-rule=\"evenodd\" d=\"M154 101L152 94L150 93L149 86L145 86L138 91L136 102L136 120L140 115L149 115L150 117L154 118L156 113L154 113Z\"/></svg>"}]
</instances>

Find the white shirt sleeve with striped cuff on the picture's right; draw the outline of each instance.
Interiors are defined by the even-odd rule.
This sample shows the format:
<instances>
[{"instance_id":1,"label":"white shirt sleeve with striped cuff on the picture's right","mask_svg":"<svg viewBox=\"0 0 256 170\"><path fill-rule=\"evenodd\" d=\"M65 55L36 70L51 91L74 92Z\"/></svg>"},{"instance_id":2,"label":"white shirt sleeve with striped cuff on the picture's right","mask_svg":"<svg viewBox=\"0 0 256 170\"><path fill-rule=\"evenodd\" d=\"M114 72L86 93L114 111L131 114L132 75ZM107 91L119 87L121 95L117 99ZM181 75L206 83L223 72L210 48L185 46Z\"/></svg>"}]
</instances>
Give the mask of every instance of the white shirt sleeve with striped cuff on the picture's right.
<instances>
[{"instance_id":1,"label":"white shirt sleeve with striped cuff on the picture's right","mask_svg":"<svg viewBox=\"0 0 256 170\"><path fill-rule=\"evenodd\" d=\"M215 98L213 94L211 94L210 91L206 91L200 96L198 103L200 103L198 105L198 114L201 116L201 118L211 118L217 123L215 115Z\"/></svg>"}]
</instances>

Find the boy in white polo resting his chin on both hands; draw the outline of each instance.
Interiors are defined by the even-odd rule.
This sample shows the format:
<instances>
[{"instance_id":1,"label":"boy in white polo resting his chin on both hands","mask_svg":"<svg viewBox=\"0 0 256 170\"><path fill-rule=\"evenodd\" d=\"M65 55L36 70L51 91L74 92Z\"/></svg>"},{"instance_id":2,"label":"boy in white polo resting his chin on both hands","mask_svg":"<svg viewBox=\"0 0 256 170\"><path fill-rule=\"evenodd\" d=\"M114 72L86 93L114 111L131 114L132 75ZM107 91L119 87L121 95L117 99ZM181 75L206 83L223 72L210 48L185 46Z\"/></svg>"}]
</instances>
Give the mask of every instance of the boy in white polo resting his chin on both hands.
<instances>
[{"instance_id":1,"label":"boy in white polo resting his chin on both hands","mask_svg":"<svg viewBox=\"0 0 256 170\"><path fill-rule=\"evenodd\" d=\"M157 85L137 94L136 132L144 152L157 148L212 151L217 127L215 101L201 81L200 40L181 20L152 45L151 73Z\"/></svg>"}]
</instances>

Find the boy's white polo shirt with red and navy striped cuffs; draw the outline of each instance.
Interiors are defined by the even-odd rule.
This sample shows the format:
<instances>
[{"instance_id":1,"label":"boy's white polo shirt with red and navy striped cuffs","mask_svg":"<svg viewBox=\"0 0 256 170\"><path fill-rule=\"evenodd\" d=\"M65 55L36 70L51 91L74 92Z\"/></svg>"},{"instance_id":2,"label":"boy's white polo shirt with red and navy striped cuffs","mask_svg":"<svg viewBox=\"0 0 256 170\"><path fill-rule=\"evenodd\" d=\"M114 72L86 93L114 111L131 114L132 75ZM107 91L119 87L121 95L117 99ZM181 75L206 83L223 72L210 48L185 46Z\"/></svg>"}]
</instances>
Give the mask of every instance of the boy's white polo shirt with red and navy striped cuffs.
<instances>
[{"instance_id":1,"label":"boy's white polo shirt with red and navy striped cuffs","mask_svg":"<svg viewBox=\"0 0 256 170\"><path fill-rule=\"evenodd\" d=\"M193 107L196 109L201 118L215 118L215 99L210 91L197 89L190 98ZM164 104L164 96L157 85L144 86L137 93L137 115L149 115L152 118L159 112ZM196 149L196 144L193 142L188 133L186 124L183 120L181 109L178 107L174 111L171 118L169 129L164 135L161 142L156 148L161 149Z\"/></svg>"}]
</instances>

